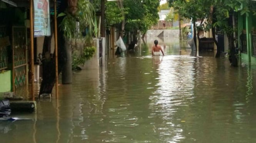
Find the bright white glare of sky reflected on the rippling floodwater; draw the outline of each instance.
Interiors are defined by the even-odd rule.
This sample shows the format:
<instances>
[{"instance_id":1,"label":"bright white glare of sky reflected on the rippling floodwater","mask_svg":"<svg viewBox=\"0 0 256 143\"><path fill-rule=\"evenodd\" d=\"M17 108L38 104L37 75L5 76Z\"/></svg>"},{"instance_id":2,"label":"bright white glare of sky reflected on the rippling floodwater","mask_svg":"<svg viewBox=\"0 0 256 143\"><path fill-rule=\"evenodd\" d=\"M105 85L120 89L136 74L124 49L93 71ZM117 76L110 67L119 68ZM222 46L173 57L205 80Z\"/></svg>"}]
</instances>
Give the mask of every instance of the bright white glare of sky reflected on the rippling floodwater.
<instances>
[{"instance_id":1,"label":"bright white glare of sky reflected on the rippling floodwater","mask_svg":"<svg viewBox=\"0 0 256 143\"><path fill-rule=\"evenodd\" d=\"M176 118L174 114L179 109L177 107L188 106L185 99L192 98L194 69L191 63L192 57L166 56L156 69L158 88L149 97L149 109L153 111L149 118L160 121L152 123L159 133L159 142L176 142L185 138L180 128L184 119Z\"/></svg>"}]
</instances>

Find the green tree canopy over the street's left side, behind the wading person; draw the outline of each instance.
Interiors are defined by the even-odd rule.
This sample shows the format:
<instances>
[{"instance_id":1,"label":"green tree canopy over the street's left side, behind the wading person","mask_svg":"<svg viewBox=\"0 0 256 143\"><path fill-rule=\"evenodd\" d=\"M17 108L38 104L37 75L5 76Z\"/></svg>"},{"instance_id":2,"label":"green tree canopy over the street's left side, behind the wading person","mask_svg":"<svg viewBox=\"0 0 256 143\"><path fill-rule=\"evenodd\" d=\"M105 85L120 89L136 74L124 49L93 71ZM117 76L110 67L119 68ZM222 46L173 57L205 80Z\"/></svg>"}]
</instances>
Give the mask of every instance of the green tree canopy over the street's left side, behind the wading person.
<instances>
[{"instance_id":1,"label":"green tree canopy over the street's left side, behind the wading person","mask_svg":"<svg viewBox=\"0 0 256 143\"><path fill-rule=\"evenodd\" d=\"M125 31L140 30L146 33L153 24L157 23L159 0L125 0L122 2L123 8L119 8L115 1L106 2L106 26L120 28L122 20L125 20Z\"/></svg>"}]
</instances>

